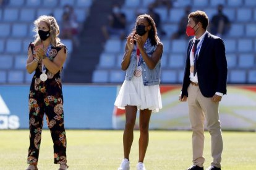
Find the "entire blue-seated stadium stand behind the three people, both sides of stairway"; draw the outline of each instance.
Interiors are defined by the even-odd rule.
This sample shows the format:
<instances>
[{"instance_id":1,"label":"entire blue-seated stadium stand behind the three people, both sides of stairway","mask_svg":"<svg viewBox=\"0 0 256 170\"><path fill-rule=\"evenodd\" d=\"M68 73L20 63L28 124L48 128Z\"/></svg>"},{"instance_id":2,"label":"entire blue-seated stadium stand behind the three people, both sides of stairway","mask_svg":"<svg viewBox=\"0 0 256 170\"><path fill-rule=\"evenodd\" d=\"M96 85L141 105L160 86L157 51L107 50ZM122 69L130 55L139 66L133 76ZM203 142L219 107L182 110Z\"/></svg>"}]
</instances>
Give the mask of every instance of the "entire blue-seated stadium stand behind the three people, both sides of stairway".
<instances>
[{"instance_id":1,"label":"entire blue-seated stadium stand behind the three people, both sides of stairway","mask_svg":"<svg viewBox=\"0 0 256 170\"><path fill-rule=\"evenodd\" d=\"M126 14L127 19L127 34L134 28L134 21L137 10L147 11L148 4L154 0L123 0L121 11ZM33 41L33 20L40 15L53 14L61 26L61 18L63 7L70 4L74 7L78 21L82 24L88 22L88 16L93 15L87 25L92 26L92 29L100 28L100 25L92 22L96 21L95 15L102 10L103 6L114 2L100 0L9 0L9 3L0 9L0 83L28 83L31 76L25 70L25 60L27 57L28 43ZM97 4L97 6L93 6ZM166 35L161 35L161 41L164 44L164 52L162 55L162 83L182 83L183 70L186 58L186 50L188 40L171 39L171 35L177 31L179 19L184 15L184 9L187 5L194 10L205 10L209 19L216 14L216 6L223 4L224 14L231 21L231 29L229 33L223 36L223 41L226 46L226 57L228 60L228 83L256 83L256 1L254 0L174 0L173 7L157 7L155 11L160 14L162 28ZM95 11L92 12L92 8ZM94 26L94 27L93 27ZM88 28L83 28L88 29ZM186 29L186 28L184 28ZM88 51L88 55L93 55L86 58L84 56L70 57L72 52L77 51L73 47L70 39L63 39L64 44L69 49L69 56L66 62L67 73L77 69L77 73L87 76L87 73L79 68L85 64L93 63L93 73L89 80L83 83L122 83L124 81L125 71L121 70L121 61L124 54L126 41L121 41L116 37L111 37L105 43L99 38L101 34L92 36L91 31L88 32L87 38L82 39L82 42L92 49ZM93 33L94 34L94 33ZM95 42L90 41L90 38L96 39ZM96 42L98 41L98 42ZM99 44L103 44L100 48ZM14 48L15 47L15 48ZM92 52L98 52L92 53ZM83 52L80 52L84 55ZM89 62L96 60L95 62ZM75 62L72 67L69 67L69 62ZM80 66L80 65L81 66ZM79 65L79 67L77 67ZM95 65L95 66L94 66ZM64 70L65 71L65 70ZM65 77L64 73L64 77ZM79 75L70 75L74 79L78 79ZM74 79L67 81L68 83L75 82Z\"/></svg>"}]
</instances>

